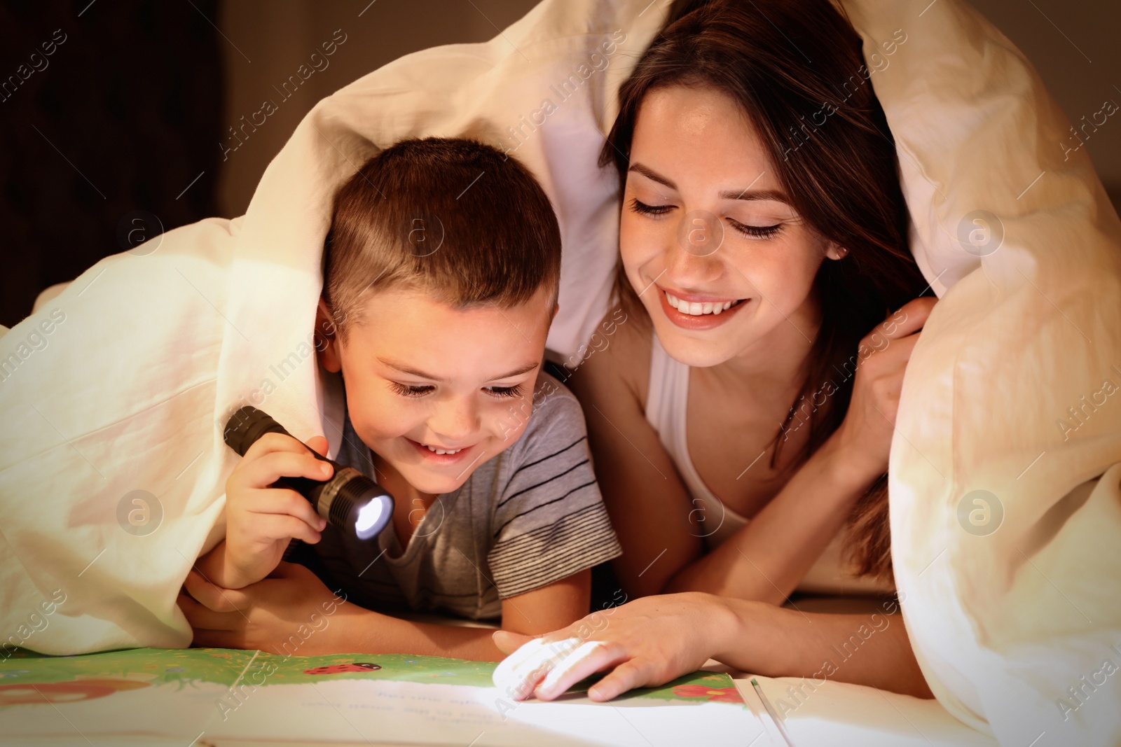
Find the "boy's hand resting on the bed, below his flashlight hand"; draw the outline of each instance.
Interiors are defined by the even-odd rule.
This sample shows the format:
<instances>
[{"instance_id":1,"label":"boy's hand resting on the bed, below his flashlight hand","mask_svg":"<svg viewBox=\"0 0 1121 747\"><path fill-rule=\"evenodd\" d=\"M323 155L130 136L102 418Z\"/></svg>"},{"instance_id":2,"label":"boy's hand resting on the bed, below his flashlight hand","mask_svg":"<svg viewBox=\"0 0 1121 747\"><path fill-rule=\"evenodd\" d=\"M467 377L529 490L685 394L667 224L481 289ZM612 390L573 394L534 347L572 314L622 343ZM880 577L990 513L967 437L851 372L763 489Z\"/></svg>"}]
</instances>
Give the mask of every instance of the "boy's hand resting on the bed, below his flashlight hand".
<instances>
[{"instance_id":1,"label":"boy's hand resting on the bed, below his flashlight hand","mask_svg":"<svg viewBox=\"0 0 1121 747\"><path fill-rule=\"evenodd\" d=\"M189 596L180 591L177 604L196 645L312 656L334 653L342 639L345 615L335 613L345 598L303 566L281 562L274 576L243 589L223 589L195 571L184 586Z\"/></svg>"}]
</instances>

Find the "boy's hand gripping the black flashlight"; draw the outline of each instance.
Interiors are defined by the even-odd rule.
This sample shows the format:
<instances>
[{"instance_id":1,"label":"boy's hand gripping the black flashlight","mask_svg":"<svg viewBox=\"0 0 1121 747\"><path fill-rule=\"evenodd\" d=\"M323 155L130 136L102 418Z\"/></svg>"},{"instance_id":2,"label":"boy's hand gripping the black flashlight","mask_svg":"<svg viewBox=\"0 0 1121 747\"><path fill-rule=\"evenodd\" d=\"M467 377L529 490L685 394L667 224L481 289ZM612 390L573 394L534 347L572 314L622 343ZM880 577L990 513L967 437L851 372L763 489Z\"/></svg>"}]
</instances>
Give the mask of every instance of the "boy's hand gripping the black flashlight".
<instances>
[{"instance_id":1,"label":"boy's hand gripping the black flashlight","mask_svg":"<svg viewBox=\"0 0 1121 747\"><path fill-rule=\"evenodd\" d=\"M307 448L325 455L327 439L315 436ZM334 467L307 448L290 436L266 433L226 479L225 554L221 579L215 579L225 587L241 588L268 576L294 536L311 544L319 541L326 520L296 491L272 487L281 477L331 477Z\"/></svg>"}]
</instances>

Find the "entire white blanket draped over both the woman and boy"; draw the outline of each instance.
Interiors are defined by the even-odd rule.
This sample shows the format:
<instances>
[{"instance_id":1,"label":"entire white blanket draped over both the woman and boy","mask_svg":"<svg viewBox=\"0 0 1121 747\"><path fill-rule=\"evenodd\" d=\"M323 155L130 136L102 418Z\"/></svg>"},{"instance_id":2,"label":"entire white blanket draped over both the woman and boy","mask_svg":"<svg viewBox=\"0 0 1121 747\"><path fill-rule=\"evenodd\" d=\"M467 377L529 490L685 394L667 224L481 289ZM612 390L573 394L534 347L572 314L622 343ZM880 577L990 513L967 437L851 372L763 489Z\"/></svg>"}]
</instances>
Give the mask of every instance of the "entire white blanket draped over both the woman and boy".
<instances>
[{"instance_id":1,"label":"entire white blanket draped over both the woman and boy","mask_svg":"<svg viewBox=\"0 0 1121 747\"><path fill-rule=\"evenodd\" d=\"M942 703L1001 744L1115 743L1121 474L1087 480L1121 463L1121 224L1038 76L980 16L846 6L943 297L891 454L912 644ZM529 166L565 246L549 349L580 355L615 261L617 184L595 158L664 13L546 0L487 44L391 63L305 118L244 216L106 258L0 337L0 635L47 653L189 643L175 597L224 530L226 414L257 404L337 450L341 402L309 344L322 245L333 192L380 147L474 136Z\"/></svg>"}]
</instances>

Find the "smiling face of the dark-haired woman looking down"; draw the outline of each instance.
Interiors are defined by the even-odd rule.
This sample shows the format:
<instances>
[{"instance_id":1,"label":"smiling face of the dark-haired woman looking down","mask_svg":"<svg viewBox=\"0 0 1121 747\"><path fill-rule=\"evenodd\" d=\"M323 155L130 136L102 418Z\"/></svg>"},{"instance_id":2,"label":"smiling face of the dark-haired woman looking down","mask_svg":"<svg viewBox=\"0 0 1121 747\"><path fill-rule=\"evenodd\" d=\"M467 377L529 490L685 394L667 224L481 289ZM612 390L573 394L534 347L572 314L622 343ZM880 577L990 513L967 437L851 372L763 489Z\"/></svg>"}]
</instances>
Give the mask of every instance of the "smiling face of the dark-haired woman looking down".
<instances>
[{"instance_id":1,"label":"smiling face of the dark-haired woman looking down","mask_svg":"<svg viewBox=\"0 0 1121 747\"><path fill-rule=\"evenodd\" d=\"M678 86L639 108L619 242L663 347L692 366L808 347L814 277L841 258L788 204L735 102Z\"/></svg>"}]
</instances>

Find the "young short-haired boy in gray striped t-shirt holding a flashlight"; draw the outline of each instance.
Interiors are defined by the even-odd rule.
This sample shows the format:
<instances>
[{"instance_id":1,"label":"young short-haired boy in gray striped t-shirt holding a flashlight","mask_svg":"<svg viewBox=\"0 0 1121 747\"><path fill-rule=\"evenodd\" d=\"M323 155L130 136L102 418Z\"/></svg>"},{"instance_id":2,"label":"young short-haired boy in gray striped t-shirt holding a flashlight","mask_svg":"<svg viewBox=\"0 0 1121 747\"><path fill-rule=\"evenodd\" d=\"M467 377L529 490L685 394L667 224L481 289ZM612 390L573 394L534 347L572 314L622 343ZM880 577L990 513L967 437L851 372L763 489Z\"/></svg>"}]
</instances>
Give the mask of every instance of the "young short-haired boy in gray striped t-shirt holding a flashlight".
<instances>
[{"instance_id":1,"label":"young short-haired boy in gray striped t-shirt holding a flashlight","mask_svg":"<svg viewBox=\"0 0 1121 747\"><path fill-rule=\"evenodd\" d=\"M330 475L270 433L230 475L226 538L197 569L242 588L297 538L294 558L364 608L500 617L518 633L584 616L591 567L621 550L580 405L541 372L560 235L540 186L478 142L399 142L336 195L325 262L318 363L345 392L335 460L393 495L392 521L356 540L270 487ZM308 445L322 454L325 439ZM485 629L349 607L340 652L501 657Z\"/></svg>"}]
</instances>

